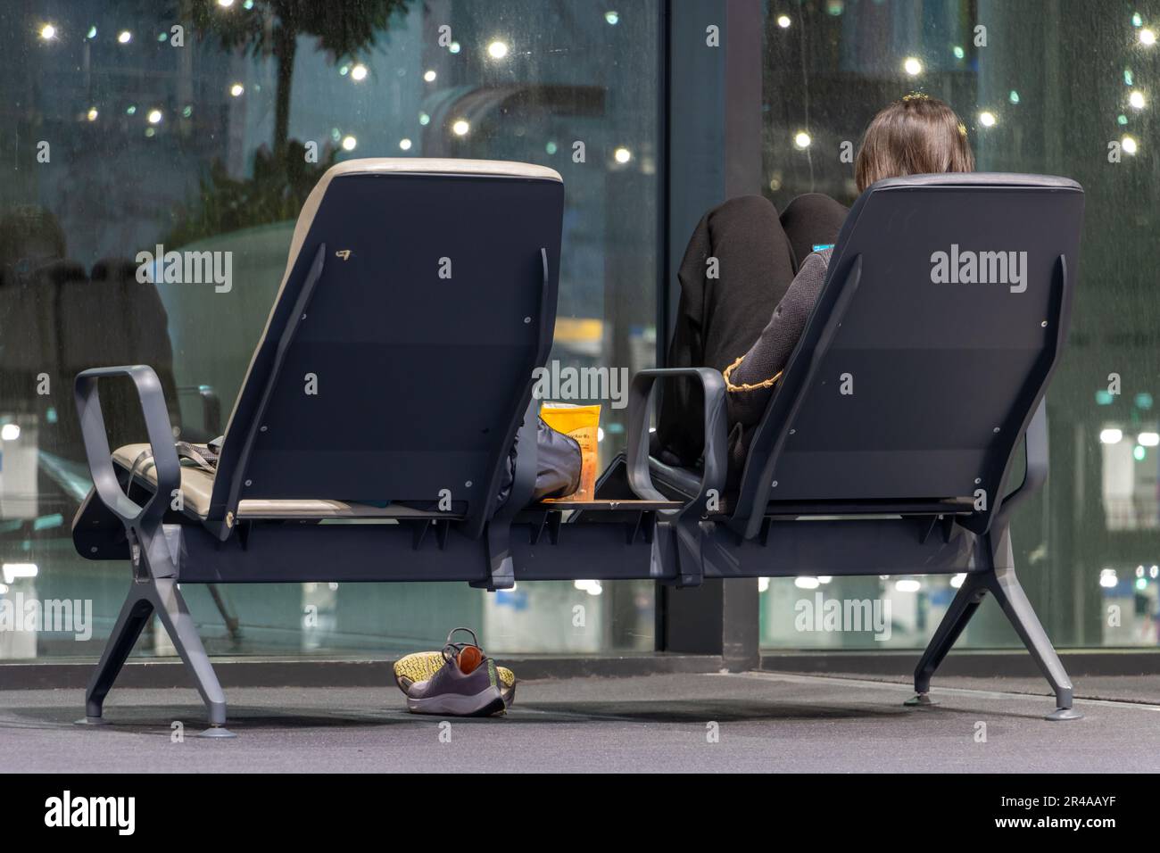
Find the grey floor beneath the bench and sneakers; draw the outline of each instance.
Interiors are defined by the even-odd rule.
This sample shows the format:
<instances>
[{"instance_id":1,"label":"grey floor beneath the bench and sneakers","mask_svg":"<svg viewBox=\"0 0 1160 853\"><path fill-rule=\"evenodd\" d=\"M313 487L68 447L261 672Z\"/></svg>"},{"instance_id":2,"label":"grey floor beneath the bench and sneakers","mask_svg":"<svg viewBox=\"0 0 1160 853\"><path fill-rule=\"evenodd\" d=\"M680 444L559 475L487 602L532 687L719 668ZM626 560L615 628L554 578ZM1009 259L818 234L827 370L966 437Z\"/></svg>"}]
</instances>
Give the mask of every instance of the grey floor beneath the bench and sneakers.
<instances>
[{"instance_id":1,"label":"grey floor beneath the bench and sneakers","mask_svg":"<svg viewBox=\"0 0 1160 853\"><path fill-rule=\"evenodd\" d=\"M1101 692L1130 696L1136 681ZM507 717L441 729L406 714L393 686L234 688L239 737L180 743L174 721L202 729L193 691L114 689L103 728L71 723L79 691L0 691L0 772L1160 771L1160 707L1078 701L1086 718L1052 723L1042 715L1054 703L1021 689L1044 688L936 687L938 707L908 709L905 685L853 678L582 678L521 684Z\"/></svg>"}]
</instances>

